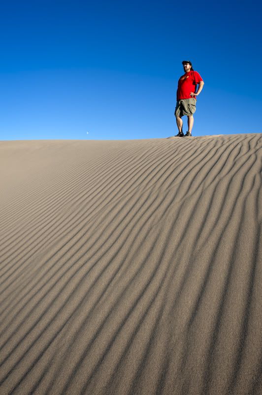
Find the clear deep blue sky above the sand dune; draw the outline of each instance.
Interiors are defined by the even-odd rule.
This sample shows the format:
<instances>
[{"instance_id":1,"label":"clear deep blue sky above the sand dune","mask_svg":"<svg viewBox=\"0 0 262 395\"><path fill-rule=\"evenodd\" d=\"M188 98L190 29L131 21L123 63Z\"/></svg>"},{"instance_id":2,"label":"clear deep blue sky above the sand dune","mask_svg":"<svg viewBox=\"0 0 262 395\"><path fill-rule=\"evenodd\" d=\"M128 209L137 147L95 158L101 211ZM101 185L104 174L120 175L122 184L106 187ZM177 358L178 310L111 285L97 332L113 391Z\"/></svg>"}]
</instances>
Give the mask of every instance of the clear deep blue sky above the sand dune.
<instances>
[{"instance_id":1,"label":"clear deep blue sky above the sand dune","mask_svg":"<svg viewBox=\"0 0 262 395\"><path fill-rule=\"evenodd\" d=\"M205 82L194 135L262 132L261 17L258 0L1 2L0 140L174 135L184 59Z\"/></svg>"}]
</instances>

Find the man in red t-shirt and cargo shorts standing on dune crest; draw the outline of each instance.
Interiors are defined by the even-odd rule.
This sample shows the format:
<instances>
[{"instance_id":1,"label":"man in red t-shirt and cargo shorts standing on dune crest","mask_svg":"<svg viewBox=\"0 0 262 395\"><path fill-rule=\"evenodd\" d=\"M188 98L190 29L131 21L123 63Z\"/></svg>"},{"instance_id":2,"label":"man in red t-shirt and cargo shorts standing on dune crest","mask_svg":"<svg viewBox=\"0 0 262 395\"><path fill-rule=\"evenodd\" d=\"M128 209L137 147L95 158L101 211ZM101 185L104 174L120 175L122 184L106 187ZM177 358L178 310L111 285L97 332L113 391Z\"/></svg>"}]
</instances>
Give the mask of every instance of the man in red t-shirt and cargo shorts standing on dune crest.
<instances>
[{"instance_id":1,"label":"man in red t-shirt and cargo shorts standing on dune crest","mask_svg":"<svg viewBox=\"0 0 262 395\"><path fill-rule=\"evenodd\" d=\"M197 99L203 89L204 81L200 74L193 70L192 63L189 60L183 60L182 65L184 67L185 74L178 80L178 88L176 92L176 108L175 117L176 124L178 127L178 134L176 137L184 137L183 133L183 115L188 117L188 131L185 136L192 136L192 128L194 124L193 114L196 111ZM198 89L197 89L197 85Z\"/></svg>"}]
</instances>

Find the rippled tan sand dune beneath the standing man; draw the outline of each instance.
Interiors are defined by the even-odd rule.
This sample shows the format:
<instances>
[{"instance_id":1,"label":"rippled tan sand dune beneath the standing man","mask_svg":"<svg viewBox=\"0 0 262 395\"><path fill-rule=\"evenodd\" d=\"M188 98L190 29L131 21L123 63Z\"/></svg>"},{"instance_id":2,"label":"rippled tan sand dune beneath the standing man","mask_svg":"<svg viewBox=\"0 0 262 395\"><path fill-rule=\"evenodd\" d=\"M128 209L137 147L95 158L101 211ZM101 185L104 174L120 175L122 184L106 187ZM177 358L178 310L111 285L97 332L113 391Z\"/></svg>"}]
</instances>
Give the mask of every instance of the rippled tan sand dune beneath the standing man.
<instances>
[{"instance_id":1,"label":"rippled tan sand dune beneath the standing man","mask_svg":"<svg viewBox=\"0 0 262 395\"><path fill-rule=\"evenodd\" d=\"M0 143L0 394L262 393L262 135Z\"/></svg>"}]
</instances>

